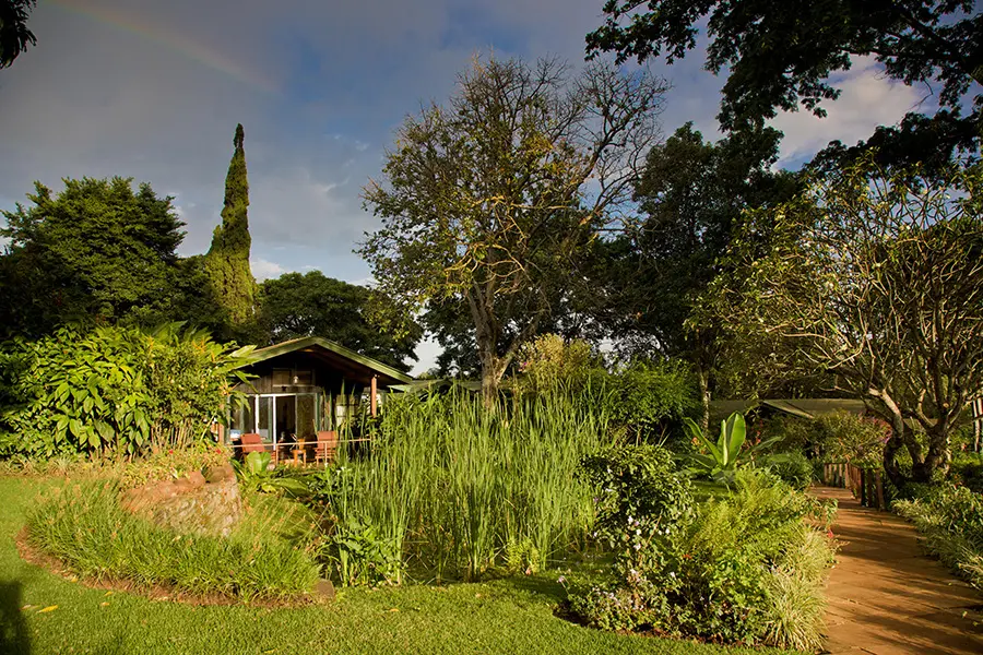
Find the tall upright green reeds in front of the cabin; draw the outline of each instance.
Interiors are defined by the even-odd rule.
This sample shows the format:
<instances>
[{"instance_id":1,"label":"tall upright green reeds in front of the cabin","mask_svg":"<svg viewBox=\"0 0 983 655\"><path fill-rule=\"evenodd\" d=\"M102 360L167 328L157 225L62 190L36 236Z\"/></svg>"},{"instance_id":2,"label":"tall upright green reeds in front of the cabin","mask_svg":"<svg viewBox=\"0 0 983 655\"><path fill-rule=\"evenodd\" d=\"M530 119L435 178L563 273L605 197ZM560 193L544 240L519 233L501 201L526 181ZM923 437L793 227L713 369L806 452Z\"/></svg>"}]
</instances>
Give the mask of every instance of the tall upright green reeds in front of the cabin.
<instances>
[{"instance_id":1,"label":"tall upright green reeds in front of the cabin","mask_svg":"<svg viewBox=\"0 0 983 655\"><path fill-rule=\"evenodd\" d=\"M591 495L573 473L608 432L604 409L561 390L496 409L463 392L392 397L369 453L322 476L330 557L341 570L370 550L369 577L390 582L544 568L585 541Z\"/></svg>"}]
</instances>

